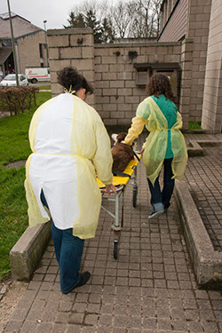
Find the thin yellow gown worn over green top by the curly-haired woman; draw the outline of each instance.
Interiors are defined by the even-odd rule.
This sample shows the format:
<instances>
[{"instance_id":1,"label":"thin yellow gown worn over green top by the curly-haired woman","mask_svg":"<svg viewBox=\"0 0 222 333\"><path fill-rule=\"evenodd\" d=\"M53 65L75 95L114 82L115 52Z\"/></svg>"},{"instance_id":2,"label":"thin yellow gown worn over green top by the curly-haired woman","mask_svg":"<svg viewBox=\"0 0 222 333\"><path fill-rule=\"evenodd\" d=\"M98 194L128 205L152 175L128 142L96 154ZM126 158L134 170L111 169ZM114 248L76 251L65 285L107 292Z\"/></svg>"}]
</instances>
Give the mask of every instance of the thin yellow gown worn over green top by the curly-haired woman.
<instances>
[{"instance_id":1,"label":"thin yellow gown worn over green top by the curly-haired woman","mask_svg":"<svg viewBox=\"0 0 222 333\"><path fill-rule=\"evenodd\" d=\"M182 128L182 118L178 113L177 123L171 129L168 129L168 122L163 115L160 107L151 97L144 99L137 109L136 117L132 119L131 129L124 139L124 143L130 144L133 139L139 137L143 131L144 125L150 134L147 137L143 162L147 169L147 178L155 185L155 179L158 177L163 160L166 155L168 131L171 132L171 149L173 152L172 172L173 178L181 180L183 178L186 162L187 151L184 136L179 129Z\"/></svg>"}]
</instances>

